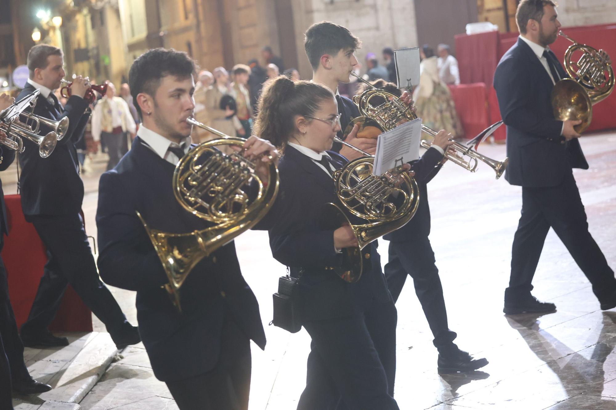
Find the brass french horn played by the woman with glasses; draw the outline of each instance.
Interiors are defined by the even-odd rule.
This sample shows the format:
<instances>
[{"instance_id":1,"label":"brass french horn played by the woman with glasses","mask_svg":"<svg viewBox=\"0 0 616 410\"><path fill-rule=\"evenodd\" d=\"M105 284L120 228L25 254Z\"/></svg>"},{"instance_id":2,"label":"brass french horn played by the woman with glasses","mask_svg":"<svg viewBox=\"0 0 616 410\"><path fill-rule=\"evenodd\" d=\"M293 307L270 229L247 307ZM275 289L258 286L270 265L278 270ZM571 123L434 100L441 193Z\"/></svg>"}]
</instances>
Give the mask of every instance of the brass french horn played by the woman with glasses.
<instances>
[{"instance_id":1,"label":"brass french horn played by the woman with glasses","mask_svg":"<svg viewBox=\"0 0 616 410\"><path fill-rule=\"evenodd\" d=\"M333 173L339 203L352 215L351 219L357 217L362 221L351 223L346 212L333 203L325 204L322 220L325 229L336 229L346 223L351 226L359 247L342 249L345 261L342 268L331 267L331 270L344 281L356 282L363 270L360 250L375 239L403 227L413 218L419 206L419 187L407 172L374 175L373 155L338 137L334 137L334 141L365 155Z\"/></svg>"}]
</instances>

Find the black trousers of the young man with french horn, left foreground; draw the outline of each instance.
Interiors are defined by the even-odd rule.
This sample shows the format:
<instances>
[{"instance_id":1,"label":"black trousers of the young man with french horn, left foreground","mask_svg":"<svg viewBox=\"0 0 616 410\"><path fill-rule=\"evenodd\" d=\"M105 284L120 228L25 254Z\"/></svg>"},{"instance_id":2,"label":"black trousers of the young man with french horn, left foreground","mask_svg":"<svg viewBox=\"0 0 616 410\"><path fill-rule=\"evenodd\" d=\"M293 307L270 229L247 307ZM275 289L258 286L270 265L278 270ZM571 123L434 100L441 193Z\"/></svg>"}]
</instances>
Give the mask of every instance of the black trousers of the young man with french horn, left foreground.
<instances>
[{"instance_id":1,"label":"black trousers of the young man with french horn, left foreground","mask_svg":"<svg viewBox=\"0 0 616 410\"><path fill-rule=\"evenodd\" d=\"M250 340L227 316L216 367L199 376L166 384L180 410L247 410L250 372Z\"/></svg>"}]
</instances>

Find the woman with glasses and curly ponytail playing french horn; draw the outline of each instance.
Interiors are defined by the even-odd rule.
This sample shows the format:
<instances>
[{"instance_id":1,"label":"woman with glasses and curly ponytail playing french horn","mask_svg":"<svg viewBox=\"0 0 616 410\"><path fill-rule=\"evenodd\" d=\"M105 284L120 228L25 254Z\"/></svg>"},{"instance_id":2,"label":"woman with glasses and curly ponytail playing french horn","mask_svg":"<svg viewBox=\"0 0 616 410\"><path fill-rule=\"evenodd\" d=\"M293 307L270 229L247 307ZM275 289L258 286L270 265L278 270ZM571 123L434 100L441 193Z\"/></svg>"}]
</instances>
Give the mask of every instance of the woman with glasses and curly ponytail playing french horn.
<instances>
[{"instance_id":1,"label":"woman with glasses and curly ponytail playing french horn","mask_svg":"<svg viewBox=\"0 0 616 410\"><path fill-rule=\"evenodd\" d=\"M278 77L265 85L255 126L283 151L280 192L261 227L269 228L274 258L299 278L301 324L312 337L298 409L398 409L397 313L376 243L358 252L363 273L349 283L336 270L346 263L345 249L357 249L354 230L322 224L323 206L338 201L334 172L349 162L330 151L340 130L334 95L315 82ZM446 146L447 135L438 141Z\"/></svg>"}]
</instances>

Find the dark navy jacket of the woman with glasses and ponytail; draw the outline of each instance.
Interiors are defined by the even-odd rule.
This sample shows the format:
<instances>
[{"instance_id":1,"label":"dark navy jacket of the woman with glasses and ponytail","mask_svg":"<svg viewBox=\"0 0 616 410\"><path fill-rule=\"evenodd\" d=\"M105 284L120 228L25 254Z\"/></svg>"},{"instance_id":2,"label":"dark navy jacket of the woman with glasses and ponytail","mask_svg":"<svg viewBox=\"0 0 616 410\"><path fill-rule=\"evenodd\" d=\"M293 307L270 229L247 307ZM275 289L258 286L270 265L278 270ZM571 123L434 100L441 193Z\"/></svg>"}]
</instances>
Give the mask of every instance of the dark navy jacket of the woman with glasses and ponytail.
<instances>
[{"instance_id":1,"label":"dark navy jacket of the woman with glasses and ponytail","mask_svg":"<svg viewBox=\"0 0 616 410\"><path fill-rule=\"evenodd\" d=\"M328 151L336 169L348 161ZM333 179L317 164L293 147L287 146L280 164L278 197L259 224L269 229L272 255L290 267L291 276L304 270L300 285L304 320L323 320L354 315L376 299L391 300L381 271L376 241L362 251L363 274L356 283L347 283L325 267L341 266L342 254L334 249L334 230L320 225L322 206L337 203Z\"/></svg>"}]
</instances>

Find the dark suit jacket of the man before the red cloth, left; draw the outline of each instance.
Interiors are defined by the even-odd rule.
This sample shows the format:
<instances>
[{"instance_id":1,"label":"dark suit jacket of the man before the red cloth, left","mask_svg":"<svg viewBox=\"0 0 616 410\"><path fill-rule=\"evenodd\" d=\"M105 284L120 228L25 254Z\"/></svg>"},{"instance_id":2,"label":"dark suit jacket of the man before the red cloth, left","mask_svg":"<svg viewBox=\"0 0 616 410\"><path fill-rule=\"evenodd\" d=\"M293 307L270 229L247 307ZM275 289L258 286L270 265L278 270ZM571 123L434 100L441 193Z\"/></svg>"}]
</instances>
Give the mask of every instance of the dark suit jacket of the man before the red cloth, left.
<instances>
[{"instance_id":1,"label":"dark suit jacket of the man before the red cloth, left","mask_svg":"<svg viewBox=\"0 0 616 410\"><path fill-rule=\"evenodd\" d=\"M34 91L26 84L17 100ZM67 135L58 141L54 152L41 158L38 145L23 140L25 150L19 155L22 165L20 192L23 213L27 215L70 215L81 211L83 203L83 182L79 177L79 160L75 143L83 136L89 115L83 115L87 102L73 95L68 98L64 108L60 104L47 102L43 95L38 96L34 114L47 119L68 117L70 120ZM49 127L41 125L39 134L47 134ZM44 135L43 134L43 135Z\"/></svg>"}]
</instances>

